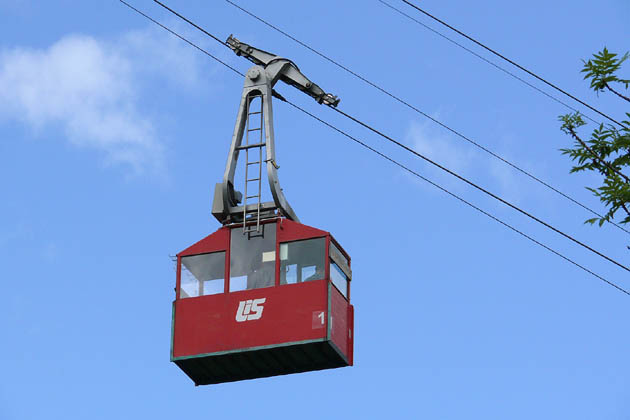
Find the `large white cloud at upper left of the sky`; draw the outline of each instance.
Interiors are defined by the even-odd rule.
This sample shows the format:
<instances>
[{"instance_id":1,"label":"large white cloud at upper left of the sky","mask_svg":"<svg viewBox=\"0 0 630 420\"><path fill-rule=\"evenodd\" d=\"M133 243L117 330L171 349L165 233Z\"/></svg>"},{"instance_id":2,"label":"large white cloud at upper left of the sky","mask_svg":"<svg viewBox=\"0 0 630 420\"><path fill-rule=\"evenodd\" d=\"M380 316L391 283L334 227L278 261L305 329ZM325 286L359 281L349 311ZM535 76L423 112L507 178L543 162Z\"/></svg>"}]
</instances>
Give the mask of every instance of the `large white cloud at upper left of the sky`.
<instances>
[{"instance_id":1,"label":"large white cloud at upper left of the sky","mask_svg":"<svg viewBox=\"0 0 630 420\"><path fill-rule=\"evenodd\" d=\"M0 119L39 132L60 126L72 144L101 150L108 163L157 168L164 146L138 98L151 77L184 87L200 80L198 58L176 41L146 30L116 41L70 35L47 49L0 51Z\"/></svg>"}]
</instances>

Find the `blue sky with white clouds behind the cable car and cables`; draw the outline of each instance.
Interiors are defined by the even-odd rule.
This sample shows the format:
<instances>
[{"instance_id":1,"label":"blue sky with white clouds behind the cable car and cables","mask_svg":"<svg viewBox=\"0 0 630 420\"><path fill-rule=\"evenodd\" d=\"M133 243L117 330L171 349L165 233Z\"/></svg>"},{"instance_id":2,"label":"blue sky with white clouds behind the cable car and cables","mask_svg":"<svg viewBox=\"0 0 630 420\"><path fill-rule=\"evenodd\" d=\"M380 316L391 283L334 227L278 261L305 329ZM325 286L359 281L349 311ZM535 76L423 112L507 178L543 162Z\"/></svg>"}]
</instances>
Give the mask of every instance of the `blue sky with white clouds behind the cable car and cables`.
<instances>
[{"instance_id":1,"label":"blue sky with white clouds behind the cable car and cables","mask_svg":"<svg viewBox=\"0 0 630 420\"><path fill-rule=\"evenodd\" d=\"M153 2L130 2L247 70ZM291 58L341 109L628 264L626 233L583 225L582 209L228 3L168 4ZM604 211L584 189L598 179L569 175L558 152L570 145L556 120L565 108L378 1L239 4ZM603 46L630 49L627 1L421 5L605 112L627 110L579 73ZM281 103L285 194L352 256L355 366L194 387L169 362L169 255L219 227L212 188L243 81L118 1L0 0L0 11L0 418L630 418L628 296ZM617 267L278 90L630 286Z\"/></svg>"}]
</instances>

